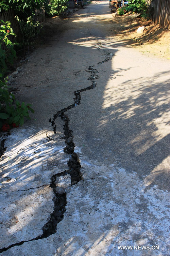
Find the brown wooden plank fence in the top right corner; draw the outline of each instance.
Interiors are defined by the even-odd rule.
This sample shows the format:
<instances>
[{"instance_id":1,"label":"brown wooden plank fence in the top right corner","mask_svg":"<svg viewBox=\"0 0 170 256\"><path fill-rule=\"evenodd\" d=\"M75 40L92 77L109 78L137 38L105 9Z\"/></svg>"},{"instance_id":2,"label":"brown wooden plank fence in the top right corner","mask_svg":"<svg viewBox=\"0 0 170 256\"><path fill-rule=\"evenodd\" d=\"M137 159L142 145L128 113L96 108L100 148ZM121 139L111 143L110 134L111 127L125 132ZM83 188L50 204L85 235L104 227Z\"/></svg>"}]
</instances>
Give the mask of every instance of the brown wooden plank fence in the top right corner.
<instances>
[{"instance_id":1,"label":"brown wooden plank fence in the top right corner","mask_svg":"<svg viewBox=\"0 0 170 256\"><path fill-rule=\"evenodd\" d=\"M148 0L152 10L153 21L160 28L170 29L170 0Z\"/></svg>"}]
</instances>

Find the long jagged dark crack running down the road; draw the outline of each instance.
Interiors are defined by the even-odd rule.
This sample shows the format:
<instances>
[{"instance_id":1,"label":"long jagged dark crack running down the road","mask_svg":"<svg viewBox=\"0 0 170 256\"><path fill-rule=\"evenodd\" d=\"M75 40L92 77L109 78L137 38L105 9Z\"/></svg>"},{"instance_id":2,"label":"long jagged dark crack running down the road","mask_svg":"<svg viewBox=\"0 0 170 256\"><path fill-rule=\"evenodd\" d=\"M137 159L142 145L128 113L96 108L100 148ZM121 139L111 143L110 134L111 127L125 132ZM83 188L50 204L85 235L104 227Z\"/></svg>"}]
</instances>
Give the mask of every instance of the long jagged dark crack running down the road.
<instances>
[{"instance_id":1,"label":"long jagged dark crack running down the road","mask_svg":"<svg viewBox=\"0 0 170 256\"><path fill-rule=\"evenodd\" d=\"M98 50L100 50L101 43L100 42L98 42L98 43L99 43ZM105 50L103 50L103 52L104 52L104 55L106 56L106 58L103 61L99 62L98 64L102 64L106 61L109 61L114 56L114 54L112 52L106 52ZM73 131L70 130L69 118L64 113L67 110L74 108L77 105L80 105L81 92L94 89L97 86L97 82L94 81L99 78L99 76L97 75L99 73L97 71L97 69L94 69L94 66L89 66L88 70L86 70L86 71L90 73L90 77L88 78L88 80L92 81L91 85L88 87L85 87L81 90L74 91L74 95L75 95L74 103L69 105L68 107L58 111L56 114L53 115L53 118L52 119L50 118L50 120L49 120L49 122L53 126L54 133L56 133L56 124L55 124L56 118L61 117L61 119L64 121L65 124L64 124L63 129L64 129L64 135L65 135L64 139L65 139L65 143L66 143L64 152L68 153L70 155L70 157L69 157L69 161L68 161L69 169L64 170L60 174L54 174L51 178L50 186L54 193L54 197L53 197L54 207L53 207L53 212L50 214L50 216L47 219L46 224L42 228L43 234L40 236L37 236L36 238L33 238L31 240L21 241L21 242L15 243L15 244L11 244L8 247L4 247L4 248L0 249L0 253L7 251L8 249L10 249L14 246L19 246L26 242L44 239L44 238L49 237L52 234L55 234L56 229L57 229L57 224L59 222L61 222L64 217L64 212L66 211L66 204L67 204L66 192L63 190L58 191L57 186L55 184L57 177L66 176L69 174L71 176L71 185L77 184L80 180L83 180L83 177L82 177L82 174L80 171L80 169L81 169L80 160L79 160L78 155L74 152L75 145L73 142ZM46 134L46 136L47 136L47 134ZM49 138L49 137L47 136L47 138ZM49 140L51 140L51 138L49 138ZM2 148L4 148L4 141L5 140L2 140L2 142L1 142ZM4 151L5 151L5 148L4 148L4 150L2 150L2 154Z\"/></svg>"}]
</instances>

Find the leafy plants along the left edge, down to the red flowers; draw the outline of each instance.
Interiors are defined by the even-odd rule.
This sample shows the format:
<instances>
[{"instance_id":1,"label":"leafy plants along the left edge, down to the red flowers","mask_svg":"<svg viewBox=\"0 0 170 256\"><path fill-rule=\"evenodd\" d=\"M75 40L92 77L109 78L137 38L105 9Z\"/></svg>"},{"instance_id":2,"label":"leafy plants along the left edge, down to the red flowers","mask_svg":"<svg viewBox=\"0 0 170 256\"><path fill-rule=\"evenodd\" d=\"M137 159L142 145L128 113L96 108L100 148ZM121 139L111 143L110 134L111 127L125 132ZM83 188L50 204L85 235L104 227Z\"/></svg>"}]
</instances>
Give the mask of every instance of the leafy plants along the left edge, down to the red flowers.
<instances>
[{"instance_id":1,"label":"leafy plants along the left edge, down to the red flowers","mask_svg":"<svg viewBox=\"0 0 170 256\"><path fill-rule=\"evenodd\" d=\"M8 35L16 36L10 27L9 21L4 22L1 20L0 26L0 128L2 131L10 130L10 127L17 127L22 125L24 117L29 117L29 111L34 112L31 108L31 104L25 105L24 102L20 104L18 101L14 103L14 95L9 92L7 86L7 80L2 79L5 72L7 71L8 65L12 65L14 58L16 58L16 51L14 45L8 39ZM5 50L2 49L2 44L5 46Z\"/></svg>"}]
</instances>

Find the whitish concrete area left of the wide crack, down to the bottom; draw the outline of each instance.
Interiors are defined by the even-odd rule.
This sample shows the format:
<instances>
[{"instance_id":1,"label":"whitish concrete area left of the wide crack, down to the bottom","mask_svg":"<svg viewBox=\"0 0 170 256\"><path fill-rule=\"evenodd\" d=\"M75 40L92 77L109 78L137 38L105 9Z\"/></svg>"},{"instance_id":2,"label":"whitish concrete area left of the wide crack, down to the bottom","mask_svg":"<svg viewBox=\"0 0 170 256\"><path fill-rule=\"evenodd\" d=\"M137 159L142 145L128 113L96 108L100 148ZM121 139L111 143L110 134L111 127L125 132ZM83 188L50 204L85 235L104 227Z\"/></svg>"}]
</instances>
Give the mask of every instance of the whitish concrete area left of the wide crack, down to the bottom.
<instances>
[{"instance_id":1,"label":"whitish concrete area left of the wide crack, down to the bottom","mask_svg":"<svg viewBox=\"0 0 170 256\"><path fill-rule=\"evenodd\" d=\"M63 140L47 130L20 127L11 132L5 146L0 171L0 249L43 234L54 207L51 177L67 169L68 161Z\"/></svg>"}]
</instances>

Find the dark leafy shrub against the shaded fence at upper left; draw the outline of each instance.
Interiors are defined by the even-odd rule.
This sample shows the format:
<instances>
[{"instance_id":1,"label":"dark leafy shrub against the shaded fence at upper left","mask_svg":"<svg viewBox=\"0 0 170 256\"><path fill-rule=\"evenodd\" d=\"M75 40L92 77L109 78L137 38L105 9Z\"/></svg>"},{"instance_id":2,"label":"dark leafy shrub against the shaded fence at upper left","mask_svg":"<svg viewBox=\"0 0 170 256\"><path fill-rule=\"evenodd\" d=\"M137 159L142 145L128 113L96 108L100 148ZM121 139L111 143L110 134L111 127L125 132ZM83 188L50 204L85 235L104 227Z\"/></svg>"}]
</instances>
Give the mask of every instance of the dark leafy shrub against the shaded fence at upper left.
<instances>
[{"instance_id":1,"label":"dark leafy shrub against the shaded fence at upper left","mask_svg":"<svg viewBox=\"0 0 170 256\"><path fill-rule=\"evenodd\" d=\"M39 25L39 21L34 21L34 18L32 16L27 18L27 22L25 22L24 20L20 20L20 18L17 16L16 18L19 22L22 33L22 42L20 43L20 45L27 47L32 46L42 26Z\"/></svg>"}]
</instances>

